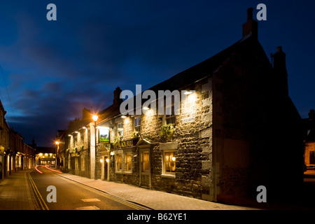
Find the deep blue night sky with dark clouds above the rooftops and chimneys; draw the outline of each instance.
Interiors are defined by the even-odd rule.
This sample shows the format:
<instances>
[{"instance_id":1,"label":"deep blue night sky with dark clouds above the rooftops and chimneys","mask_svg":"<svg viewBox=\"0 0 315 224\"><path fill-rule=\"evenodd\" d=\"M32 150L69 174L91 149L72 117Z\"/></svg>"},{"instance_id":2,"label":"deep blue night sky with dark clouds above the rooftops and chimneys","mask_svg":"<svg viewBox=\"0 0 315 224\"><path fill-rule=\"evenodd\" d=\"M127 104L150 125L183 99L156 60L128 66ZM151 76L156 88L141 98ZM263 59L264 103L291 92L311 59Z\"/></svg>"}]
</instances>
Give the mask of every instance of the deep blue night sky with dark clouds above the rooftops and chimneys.
<instances>
[{"instance_id":1,"label":"deep blue night sky with dark clouds above the rooftops and chimneys","mask_svg":"<svg viewBox=\"0 0 315 224\"><path fill-rule=\"evenodd\" d=\"M48 21L48 3L57 21ZM0 98L10 127L38 146L100 111L116 87L135 92L204 61L242 37L246 9L267 6L258 39L286 52L289 94L302 118L315 109L314 1L1 1ZM272 81L272 80L270 80ZM266 90L268 91L268 90ZM283 111L284 112L284 111Z\"/></svg>"}]
</instances>

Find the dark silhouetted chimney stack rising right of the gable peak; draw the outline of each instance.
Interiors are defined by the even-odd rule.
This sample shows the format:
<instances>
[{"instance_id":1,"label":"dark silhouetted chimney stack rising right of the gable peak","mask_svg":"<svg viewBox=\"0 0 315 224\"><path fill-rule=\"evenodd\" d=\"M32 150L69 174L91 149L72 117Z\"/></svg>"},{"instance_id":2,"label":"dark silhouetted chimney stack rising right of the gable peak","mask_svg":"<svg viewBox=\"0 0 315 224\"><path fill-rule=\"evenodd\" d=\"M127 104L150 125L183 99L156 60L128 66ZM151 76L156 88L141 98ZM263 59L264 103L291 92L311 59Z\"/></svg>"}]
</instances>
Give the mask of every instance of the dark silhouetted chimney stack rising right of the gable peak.
<instances>
[{"instance_id":1,"label":"dark silhouetted chimney stack rising right of the gable peak","mask_svg":"<svg viewBox=\"0 0 315 224\"><path fill-rule=\"evenodd\" d=\"M274 78L278 80L281 91L288 96L288 72L286 71L286 53L282 51L282 47L276 48L276 52L272 55L274 61Z\"/></svg>"}]
</instances>

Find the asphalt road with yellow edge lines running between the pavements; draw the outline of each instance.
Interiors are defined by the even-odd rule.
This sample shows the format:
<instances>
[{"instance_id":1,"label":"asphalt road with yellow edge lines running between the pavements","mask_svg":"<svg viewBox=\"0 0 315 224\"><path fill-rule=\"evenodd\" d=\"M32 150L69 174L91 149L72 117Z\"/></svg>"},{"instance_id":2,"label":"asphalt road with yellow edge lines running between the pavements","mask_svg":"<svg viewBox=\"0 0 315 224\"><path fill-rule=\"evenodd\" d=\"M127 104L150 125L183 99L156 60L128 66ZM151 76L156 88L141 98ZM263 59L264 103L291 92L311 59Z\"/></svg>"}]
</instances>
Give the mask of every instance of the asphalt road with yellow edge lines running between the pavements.
<instances>
[{"instance_id":1,"label":"asphalt road with yellow edge lines running between the pavements","mask_svg":"<svg viewBox=\"0 0 315 224\"><path fill-rule=\"evenodd\" d=\"M39 209L43 210L142 210L143 207L94 188L70 181L49 167L28 174ZM48 188L55 187L54 189ZM52 187L52 188L53 188ZM55 193L55 194L54 194ZM56 202L53 200L55 199Z\"/></svg>"}]
</instances>

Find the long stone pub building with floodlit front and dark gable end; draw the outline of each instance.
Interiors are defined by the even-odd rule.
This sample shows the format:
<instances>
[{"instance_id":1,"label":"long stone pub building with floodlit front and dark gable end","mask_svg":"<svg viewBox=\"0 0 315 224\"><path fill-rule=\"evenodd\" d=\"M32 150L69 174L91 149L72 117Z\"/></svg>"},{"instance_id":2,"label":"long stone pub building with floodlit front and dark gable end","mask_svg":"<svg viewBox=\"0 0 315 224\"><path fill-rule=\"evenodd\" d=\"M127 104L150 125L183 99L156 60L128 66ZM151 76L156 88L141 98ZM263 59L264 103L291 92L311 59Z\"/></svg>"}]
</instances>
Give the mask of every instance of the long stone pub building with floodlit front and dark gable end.
<instances>
[{"instance_id":1,"label":"long stone pub building with floodlit front and dark gable end","mask_svg":"<svg viewBox=\"0 0 315 224\"><path fill-rule=\"evenodd\" d=\"M164 95L137 106L134 96L128 100L141 114L123 114L118 87L96 121L85 109L62 136L62 166L92 179L211 201L255 202L258 186L282 195L283 181L290 179L284 188L290 190L303 174L302 123L288 96L285 57L279 47L269 61L250 8L239 41L149 89L155 96L168 91L174 100ZM288 172L279 176L282 161Z\"/></svg>"}]
</instances>

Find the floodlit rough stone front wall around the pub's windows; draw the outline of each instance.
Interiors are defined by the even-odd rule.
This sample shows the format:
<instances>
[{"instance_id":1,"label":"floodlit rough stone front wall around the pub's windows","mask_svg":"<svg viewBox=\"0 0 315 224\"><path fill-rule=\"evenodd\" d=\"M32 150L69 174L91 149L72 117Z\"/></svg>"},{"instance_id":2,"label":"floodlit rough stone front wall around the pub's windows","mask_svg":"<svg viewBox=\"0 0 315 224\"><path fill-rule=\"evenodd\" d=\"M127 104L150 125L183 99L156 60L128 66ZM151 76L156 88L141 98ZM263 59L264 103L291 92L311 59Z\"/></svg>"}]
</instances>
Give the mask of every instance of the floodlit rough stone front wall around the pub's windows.
<instances>
[{"instance_id":1,"label":"floodlit rough stone front wall around the pub's windows","mask_svg":"<svg viewBox=\"0 0 315 224\"><path fill-rule=\"evenodd\" d=\"M212 167L212 82L204 79L187 87L195 90L181 104L181 113L176 116L174 137L160 137L163 116L147 111L141 116L141 137L151 142L151 188L179 195L202 198L209 195ZM186 95L184 95L186 97ZM118 118L120 119L120 118ZM116 119L116 123L119 121ZM132 138L133 120L123 120L123 141ZM112 136L116 135L115 125ZM162 155L164 149L174 149L176 158L175 176L163 175ZM132 150L132 174L115 173L114 157L111 161L111 181L139 186L139 148Z\"/></svg>"}]
</instances>

